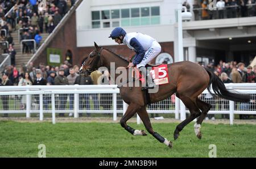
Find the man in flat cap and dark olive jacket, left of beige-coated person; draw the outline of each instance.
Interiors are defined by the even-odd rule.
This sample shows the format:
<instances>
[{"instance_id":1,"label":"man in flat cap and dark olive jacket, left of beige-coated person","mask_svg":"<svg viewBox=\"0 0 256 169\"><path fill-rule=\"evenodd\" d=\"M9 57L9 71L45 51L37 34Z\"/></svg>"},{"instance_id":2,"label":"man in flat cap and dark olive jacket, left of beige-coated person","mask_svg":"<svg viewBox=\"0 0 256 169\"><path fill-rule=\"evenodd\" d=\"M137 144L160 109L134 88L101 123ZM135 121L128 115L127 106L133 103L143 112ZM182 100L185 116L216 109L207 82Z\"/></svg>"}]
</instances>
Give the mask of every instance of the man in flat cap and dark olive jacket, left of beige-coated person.
<instances>
[{"instance_id":1,"label":"man in flat cap and dark olive jacket, left of beige-coated person","mask_svg":"<svg viewBox=\"0 0 256 169\"><path fill-rule=\"evenodd\" d=\"M64 75L64 69L59 70L59 75L54 78L55 85L68 85L68 78ZM68 95L67 94L59 94L60 105L59 109L64 110L67 104ZM59 113L60 117L64 117L64 113Z\"/></svg>"}]
</instances>

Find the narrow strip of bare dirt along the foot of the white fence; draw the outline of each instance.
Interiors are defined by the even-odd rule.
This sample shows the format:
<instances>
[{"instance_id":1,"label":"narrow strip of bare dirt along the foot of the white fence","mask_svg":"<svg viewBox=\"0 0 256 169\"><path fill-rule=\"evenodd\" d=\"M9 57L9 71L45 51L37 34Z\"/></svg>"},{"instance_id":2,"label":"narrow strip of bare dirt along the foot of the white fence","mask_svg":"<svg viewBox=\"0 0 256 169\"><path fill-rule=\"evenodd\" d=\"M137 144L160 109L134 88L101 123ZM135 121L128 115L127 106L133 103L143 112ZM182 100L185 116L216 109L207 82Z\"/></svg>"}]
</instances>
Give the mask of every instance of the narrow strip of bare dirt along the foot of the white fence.
<instances>
[{"instance_id":1,"label":"narrow strip of bare dirt along the foot of the white fence","mask_svg":"<svg viewBox=\"0 0 256 169\"><path fill-rule=\"evenodd\" d=\"M117 121L113 121L113 118L110 117L79 117L77 119L73 117L56 117L57 122L114 122L119 123L121 117L117 117ZM17 122L51 122L52 118L46 117L43 121L39 121L39 117L31 117L27 119L26 117L0 117L0 121L17 121ZM181 122L180 120L176 119L162 119L162 120L155 120L150 119L152 123L154 122ZM137 122L136 118L130 119L128 122ZM228 119L217 119L217 120L204 120L205 123L210 124L229 124ZM256 120L234 120L234 124L254 124L256 125Z\"/></svg>"}]
</instances>

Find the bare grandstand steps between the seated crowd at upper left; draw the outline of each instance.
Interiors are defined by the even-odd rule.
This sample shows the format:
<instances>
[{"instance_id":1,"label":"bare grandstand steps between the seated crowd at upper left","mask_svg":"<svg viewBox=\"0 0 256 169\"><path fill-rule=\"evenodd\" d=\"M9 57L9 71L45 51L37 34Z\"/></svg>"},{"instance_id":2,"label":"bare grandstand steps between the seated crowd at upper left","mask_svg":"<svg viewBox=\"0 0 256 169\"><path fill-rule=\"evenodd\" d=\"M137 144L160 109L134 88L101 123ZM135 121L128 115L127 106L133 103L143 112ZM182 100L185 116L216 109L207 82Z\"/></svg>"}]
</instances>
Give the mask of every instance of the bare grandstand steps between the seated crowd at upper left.
<instances>
[{"instance_id":1,"label":"bare grandstand steps between the seated crowd at upper left","mask_svg":"<svg viewBox=\"0 0 256 169\"><path fill-rule=\"evenodd\" d=\"M43 37L41 44L44 42L44 40L46 40L48 35L49 33L41 33L41 36ZM22 50L20 50L18 31L11 33L11 36L13 36L14 49L16 50L15 65L16 67L20 67L22 64L27 64L27 62L30 60L30 58L33 56L34 53L30 53L30 54L22 53Z\"/></svg>"}]
</instances>

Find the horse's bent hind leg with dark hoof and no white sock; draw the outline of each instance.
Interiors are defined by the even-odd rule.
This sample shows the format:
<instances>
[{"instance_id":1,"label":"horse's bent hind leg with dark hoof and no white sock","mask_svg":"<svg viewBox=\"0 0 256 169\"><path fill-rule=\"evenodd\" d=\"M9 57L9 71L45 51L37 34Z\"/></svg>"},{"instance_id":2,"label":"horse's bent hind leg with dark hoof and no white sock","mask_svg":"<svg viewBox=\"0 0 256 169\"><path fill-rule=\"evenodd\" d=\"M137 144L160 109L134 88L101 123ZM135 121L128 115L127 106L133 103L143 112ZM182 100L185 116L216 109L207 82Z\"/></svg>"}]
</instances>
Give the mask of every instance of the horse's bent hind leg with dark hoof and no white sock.
<instances>
[{"instance_id":1,"label":"horse's bent hind leg with dark hoof and no white sock","mask_svg":"<svg viewBox=\"0 0 256 169\"><path fill-rule=\"evenodd\" d=\"M182 102L185 104L185 106L189 109L190 116L187 119L185 119L184 121L182 121L179 125L176 126L176 129L174 131L174 140L176 140L179 137L179 132L181 132L181 130L187 124L189 124L189 122L196 119L196 117L200 116L200 114L201 114L200 109L197 107L197 105L195 104L195 102L193 102L193 100L191 98L189 98L188 96L179 95L179 94L177 96L178 96L178 98L180 98L182 100Z\"/></svg>"}]
</instances>

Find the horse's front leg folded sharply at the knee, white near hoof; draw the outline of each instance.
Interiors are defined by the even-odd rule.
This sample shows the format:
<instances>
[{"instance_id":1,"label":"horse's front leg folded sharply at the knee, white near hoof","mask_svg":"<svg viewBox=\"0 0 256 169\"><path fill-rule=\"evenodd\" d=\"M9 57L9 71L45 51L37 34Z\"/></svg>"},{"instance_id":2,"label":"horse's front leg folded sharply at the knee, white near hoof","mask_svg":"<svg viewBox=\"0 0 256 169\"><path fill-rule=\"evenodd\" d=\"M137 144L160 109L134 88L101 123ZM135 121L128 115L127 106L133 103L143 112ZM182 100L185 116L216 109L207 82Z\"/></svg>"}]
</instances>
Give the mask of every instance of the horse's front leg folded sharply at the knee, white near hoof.
<instances>
[{"instance_id":1,"label":"horse's front leg folded sharply at the knee, white near hoof","mask_svg":"<svg viewBox=\"0 0 256 169\"><path fill-rule=\"evenodd\" d=\"M137 111L139 111L140 108L141 107L138 104L131 103L126 110L125 115L123 115L123 117L121 118L120 124L123 128L125 128L125 130L127 130L129 133L131 133L135 136L136 135L147 136L147 134L144 132L144 130L135 130L126 124L126 121L131 119L131 117L133 117L133 115Z\"/></svg>"}]
</instances>

